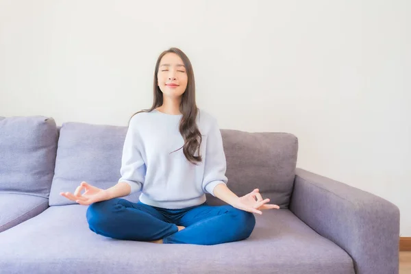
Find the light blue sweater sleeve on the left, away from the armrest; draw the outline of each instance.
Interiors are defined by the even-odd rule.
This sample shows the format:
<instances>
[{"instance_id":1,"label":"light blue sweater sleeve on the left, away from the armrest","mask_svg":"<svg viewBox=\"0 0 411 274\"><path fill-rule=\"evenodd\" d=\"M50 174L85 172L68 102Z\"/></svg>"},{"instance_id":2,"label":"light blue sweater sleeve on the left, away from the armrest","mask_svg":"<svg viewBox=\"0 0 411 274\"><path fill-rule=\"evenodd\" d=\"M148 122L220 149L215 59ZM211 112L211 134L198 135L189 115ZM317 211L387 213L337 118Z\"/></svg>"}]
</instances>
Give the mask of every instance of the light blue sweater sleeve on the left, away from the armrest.
<instances>
[{"instance_id":1,"label":"light blue sweater sleeve on the left, away from the armrest","mask_svg":"<svg viewBox=\"0 0 411 274\"><path fill-rule=\"evenodd\" d=\"M145 162L138 149L138 137L135 121L130 121L123 145L121 158L121 178L119 182L129 184L133 192L140 191L145 179Z\"/></svg>"}]
</instances>

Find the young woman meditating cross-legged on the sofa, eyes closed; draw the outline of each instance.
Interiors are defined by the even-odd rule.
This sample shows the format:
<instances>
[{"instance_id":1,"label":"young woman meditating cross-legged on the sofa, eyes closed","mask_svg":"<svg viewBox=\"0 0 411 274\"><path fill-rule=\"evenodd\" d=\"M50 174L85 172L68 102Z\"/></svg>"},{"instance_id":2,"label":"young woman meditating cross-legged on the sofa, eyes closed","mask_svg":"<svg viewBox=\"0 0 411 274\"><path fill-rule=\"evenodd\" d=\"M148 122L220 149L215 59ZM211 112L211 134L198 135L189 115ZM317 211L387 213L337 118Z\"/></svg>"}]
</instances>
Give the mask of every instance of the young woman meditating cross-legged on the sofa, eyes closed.
<instances>
[{"instance_id":1,"label":"young woman meditating cross-legged on the sofa, eyes closed","mask_svg":"<svg viewBox=\"0 0 411 274\"><path fill-rule=\"evenodd\" d=\"M216 245L248 238L253 213L279 208L258 189L237 197L227 188L219 127L197 108L191 63L177 48L158 57L153 105L130 119L121 164L121 178L111 188L82 182L74 193L60 193L90 205L89 227L106 237ZM142 192L138 203L120 198L136 191ZM208 206L207 192L228 205Z\"/></svg>"}]
</instances>

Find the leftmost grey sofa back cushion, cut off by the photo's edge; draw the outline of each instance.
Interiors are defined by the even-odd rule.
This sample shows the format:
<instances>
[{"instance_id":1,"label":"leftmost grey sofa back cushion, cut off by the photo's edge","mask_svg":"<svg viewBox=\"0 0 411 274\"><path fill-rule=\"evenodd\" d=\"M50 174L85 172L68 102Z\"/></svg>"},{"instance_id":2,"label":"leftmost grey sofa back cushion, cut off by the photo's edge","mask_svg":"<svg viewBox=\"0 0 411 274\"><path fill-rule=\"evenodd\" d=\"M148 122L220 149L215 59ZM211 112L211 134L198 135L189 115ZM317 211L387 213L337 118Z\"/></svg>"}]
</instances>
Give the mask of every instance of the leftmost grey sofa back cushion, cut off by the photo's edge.
<instances>
[{"instance_id":1,"label":"leftmost grey sofa back cushion, cut off by the photo's edge","mask_svg":"<svg viewBox=\"0 0 411 274\"><path fill-rule=\"evenodd\" d=\"M45 116L0 118L0 192L49 197L57 127Z\"/></svg>"}]
</instances>

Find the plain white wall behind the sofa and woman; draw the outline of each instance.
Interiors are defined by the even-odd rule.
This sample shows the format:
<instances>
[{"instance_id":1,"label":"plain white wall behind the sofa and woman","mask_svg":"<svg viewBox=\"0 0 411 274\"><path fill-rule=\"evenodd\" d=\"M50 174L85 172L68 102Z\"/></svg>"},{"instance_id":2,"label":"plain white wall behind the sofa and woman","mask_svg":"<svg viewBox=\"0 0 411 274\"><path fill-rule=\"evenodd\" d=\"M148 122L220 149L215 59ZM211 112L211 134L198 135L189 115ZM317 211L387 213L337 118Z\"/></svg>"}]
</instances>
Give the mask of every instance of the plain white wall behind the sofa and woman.
<instances>
[{"instance_id":1,"label":"plain white wall behind the sofa and woman","mask_svg":"<svg viewBox=\"0 0 411 274\"><path fill-rule=\"evenodd\" d=\"M0 0L0 115L126 125L158 54L221 128L291 132L298 166L392 201L411 236L411 2Z\"/></svg>"}]
</instances>

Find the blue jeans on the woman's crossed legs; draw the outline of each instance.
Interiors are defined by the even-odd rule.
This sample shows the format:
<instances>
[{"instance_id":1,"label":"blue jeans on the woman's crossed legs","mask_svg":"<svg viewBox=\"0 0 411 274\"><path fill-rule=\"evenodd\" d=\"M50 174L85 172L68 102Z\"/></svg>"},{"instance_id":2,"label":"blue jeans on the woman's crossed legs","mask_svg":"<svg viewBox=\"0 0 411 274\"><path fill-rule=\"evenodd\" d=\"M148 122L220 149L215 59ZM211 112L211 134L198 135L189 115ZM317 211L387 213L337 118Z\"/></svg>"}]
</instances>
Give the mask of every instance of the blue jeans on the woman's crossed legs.
<instances>
[{"instance_id":1,"label":"blue jeans on the woman's crossed legs","mask_svg":"<svg viewBox=\"0 0 411 274\"><path fill-rule=\"evenodd\" d=\"M256 225L250 212L233 206L199 206L171 210L114 198L92 203L87 210L90 229L121 240L165 244L217 245L248 238ZM186 227L178 231L177 225Z\"/></svg>"}]
</instances>

